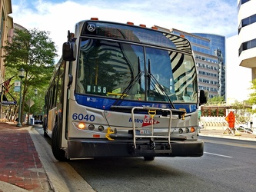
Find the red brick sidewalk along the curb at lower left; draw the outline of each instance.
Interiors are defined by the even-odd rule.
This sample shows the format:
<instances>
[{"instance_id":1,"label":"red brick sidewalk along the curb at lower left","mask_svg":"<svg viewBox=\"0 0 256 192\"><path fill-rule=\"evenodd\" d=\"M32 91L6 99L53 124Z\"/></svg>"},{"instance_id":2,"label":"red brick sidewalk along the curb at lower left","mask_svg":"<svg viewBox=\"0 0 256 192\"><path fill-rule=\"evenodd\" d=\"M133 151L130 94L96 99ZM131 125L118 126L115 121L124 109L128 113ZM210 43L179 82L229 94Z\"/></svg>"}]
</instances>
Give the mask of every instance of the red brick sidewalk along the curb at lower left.
<instances>
[{"instance_id":1,"label":"red brick sidewalk along the curb at lower left","mask_svg":"<svg viewBox=\"0 0 256 192\"><path fill-rule=\"evenodd\" d=\"M0 122L0 142L0 181L29 191L52 191L27 125Z\"/></svg>"}]
</instances>

